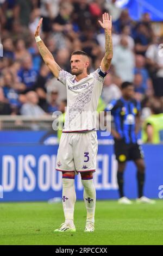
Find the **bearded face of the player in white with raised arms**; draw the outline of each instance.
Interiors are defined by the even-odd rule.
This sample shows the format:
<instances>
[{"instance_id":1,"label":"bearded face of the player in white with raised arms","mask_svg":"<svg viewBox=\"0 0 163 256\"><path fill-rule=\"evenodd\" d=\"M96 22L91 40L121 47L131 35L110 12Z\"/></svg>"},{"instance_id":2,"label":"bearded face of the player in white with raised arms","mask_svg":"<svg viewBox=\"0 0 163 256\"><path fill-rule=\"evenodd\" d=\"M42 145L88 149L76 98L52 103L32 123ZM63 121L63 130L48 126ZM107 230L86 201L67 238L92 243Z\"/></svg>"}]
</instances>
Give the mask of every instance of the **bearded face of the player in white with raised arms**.
<instances>
[{"instance_id":1,"label":"bearded face of the player in white with raised arms","mask_svg":"<svg viewBox=\"0 0 163 256\"><path fill-rule=\"evenodd\" d=\"M73 55L71 56L71 73L72 75L80 75L83 73L84 69L89 66L89 59L83 55Z\"/></svg>"}]
</instances>

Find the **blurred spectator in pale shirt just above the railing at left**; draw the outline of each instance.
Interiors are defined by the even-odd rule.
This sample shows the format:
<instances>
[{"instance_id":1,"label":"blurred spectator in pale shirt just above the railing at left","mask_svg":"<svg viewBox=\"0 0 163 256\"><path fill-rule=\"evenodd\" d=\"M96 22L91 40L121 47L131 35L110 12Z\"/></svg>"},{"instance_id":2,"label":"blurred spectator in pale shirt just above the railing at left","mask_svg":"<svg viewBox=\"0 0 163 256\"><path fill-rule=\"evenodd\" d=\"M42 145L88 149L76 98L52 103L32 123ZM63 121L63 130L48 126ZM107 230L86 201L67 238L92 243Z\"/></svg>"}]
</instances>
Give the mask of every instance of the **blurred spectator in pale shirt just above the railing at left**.
<instances>
[{"instance_id":1,"label":"blurred spectator in pale shirt just above the railing at left","mask_svg":"<svg viewBox=\"0 0 163 256\"><path fill-rule=\"evenodd\" d=\"M43 111L43 109L37 105L39 103L39 97L35 92L28 92L26 94L27 97L27 103L24 103L21 107L21 114L27 115L31 117L42 117L42 115L45 115L46 113Z\"/></svg>"}]
</instances>

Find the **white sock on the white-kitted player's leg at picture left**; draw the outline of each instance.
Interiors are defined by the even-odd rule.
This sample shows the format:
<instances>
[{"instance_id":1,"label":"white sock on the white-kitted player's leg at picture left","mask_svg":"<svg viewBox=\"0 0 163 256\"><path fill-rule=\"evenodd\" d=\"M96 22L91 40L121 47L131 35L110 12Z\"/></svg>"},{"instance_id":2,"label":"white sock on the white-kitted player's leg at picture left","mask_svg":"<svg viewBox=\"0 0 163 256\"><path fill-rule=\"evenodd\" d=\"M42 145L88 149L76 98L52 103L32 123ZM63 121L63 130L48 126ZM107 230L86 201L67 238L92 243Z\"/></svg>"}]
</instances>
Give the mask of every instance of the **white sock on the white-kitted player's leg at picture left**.
<instances>
[{"instance_id":1,"label":"white sock on the white-kitted player's leg at picture left","mask_svg":"<svg viewBox=\"0 0 163 256\"><path fill-rule=\"evenodd\" d=\"M76 202L74 179L62 179L62 186L62 204L65 222L73 225L74 204Z\"/></svg>"}]
</instances>

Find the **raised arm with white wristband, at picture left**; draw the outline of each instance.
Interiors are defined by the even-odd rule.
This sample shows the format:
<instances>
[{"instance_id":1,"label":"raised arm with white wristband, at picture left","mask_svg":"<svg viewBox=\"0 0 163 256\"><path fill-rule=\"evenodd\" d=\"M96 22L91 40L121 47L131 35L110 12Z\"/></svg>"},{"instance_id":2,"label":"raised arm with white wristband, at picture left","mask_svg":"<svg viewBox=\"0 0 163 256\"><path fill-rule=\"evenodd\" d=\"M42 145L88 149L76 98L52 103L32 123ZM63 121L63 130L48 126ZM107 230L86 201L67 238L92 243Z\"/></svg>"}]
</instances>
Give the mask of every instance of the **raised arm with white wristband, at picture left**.
<instances>
[{"instance_id":1,"label":"raised arm with white wristband, at picture left","mask_svg":"<svg viewBox=\"0 0 163 256\"><path fill-rule=\"evenodd\" d=\"M55 62L54 57L51 52L49 52L48 48L45 46L43 41L40 38L40 27L42 25L42 18L39 21L39 25L36 28L35 31L35 39L37 42L37 47L39 48L39 52L45 62L45 64L48 66L48 68L51 70L51 72L54 74L55 77L58 78L59 71L61 70L60 66Z\"/></svg>"}]
</instances>

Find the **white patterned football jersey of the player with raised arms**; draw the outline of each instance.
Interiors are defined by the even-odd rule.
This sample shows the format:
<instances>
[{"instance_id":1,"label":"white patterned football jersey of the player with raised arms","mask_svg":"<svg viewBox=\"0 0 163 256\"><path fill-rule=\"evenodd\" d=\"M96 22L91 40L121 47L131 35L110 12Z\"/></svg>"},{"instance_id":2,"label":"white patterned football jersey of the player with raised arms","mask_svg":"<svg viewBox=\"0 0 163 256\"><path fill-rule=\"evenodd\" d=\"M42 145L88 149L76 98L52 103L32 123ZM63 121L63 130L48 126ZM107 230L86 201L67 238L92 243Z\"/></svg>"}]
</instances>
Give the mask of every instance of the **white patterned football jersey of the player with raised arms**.
<instances>
[{"instance_id":1,"label":"white patterned football jersey of the player with raised arms","mask_svg":"<svg viewBox=\"0 0 163 256\"><path fill-rule=\"evenodd\" d=\"M65 70L58 80L66 86L67 109L63 132L96 130L96 110L102 92L105 73L101 68L80 81Z\"/></svg>"}]
</instances>

